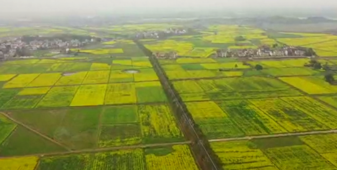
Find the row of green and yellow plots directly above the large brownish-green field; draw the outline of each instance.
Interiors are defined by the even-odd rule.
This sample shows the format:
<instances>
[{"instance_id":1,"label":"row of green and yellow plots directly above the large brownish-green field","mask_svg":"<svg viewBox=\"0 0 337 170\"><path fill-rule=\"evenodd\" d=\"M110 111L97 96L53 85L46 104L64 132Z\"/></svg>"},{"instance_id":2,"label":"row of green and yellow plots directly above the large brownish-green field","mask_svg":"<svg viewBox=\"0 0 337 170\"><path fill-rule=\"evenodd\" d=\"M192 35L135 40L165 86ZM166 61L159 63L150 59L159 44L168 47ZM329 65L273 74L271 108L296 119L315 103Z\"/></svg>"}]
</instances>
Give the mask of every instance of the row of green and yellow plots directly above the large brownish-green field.
<instances>
[{"instance_id":1,"label":"row of green and yellow plots directly above the large brownish-green field","mask_svg":"<svg viewBox=\"0 0 337 170\"><path fill-rule=\"evenodd\" d=\"M165 102L159 82L1 89L2 109Z\"/></svg>"}]
</instances>

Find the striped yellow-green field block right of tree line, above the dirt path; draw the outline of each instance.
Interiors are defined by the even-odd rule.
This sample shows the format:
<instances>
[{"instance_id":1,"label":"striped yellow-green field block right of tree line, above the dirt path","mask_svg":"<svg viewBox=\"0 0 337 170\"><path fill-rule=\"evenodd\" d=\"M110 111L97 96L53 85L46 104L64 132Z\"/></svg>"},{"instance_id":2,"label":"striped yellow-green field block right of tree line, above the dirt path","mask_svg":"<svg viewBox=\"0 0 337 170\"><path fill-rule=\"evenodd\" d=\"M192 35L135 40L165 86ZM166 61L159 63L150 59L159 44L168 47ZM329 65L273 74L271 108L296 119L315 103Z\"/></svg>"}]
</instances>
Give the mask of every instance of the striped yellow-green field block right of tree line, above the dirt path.
<instances>
[{"instance_id":1,"label":"striped yellow-green field block right of tree line, above the dirt path","mask_svg":"<svg viewBox=\"0 0 337 170\"><path fill-rule=\"evenodd\" d=\"M209 138L337 128L337 111L309 97L188 102L186 105Z\"/></svg>"}]
</instances>

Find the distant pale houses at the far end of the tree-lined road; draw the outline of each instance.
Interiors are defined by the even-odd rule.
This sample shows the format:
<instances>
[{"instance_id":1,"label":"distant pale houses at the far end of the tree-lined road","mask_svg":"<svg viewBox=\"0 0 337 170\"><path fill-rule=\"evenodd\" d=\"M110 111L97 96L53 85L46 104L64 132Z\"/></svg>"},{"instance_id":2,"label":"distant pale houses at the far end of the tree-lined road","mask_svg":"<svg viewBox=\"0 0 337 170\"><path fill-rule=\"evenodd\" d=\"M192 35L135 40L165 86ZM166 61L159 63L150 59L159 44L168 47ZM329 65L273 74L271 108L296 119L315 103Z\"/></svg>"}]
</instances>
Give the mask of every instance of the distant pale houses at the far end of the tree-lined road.
<instances>
[{"instance_id":1,"label":"distant pale houses at the far end of the tree-lined road","mask_svg":"<svg viewBox=\"0 0 337 170\"><path fill-rule=\"evenodd\" d=\"M166 36L182 35L186 34L185 29L168 28L164 31L142 31L135 34L136 39L159 39Z\"/></svg>"}]
</instances>

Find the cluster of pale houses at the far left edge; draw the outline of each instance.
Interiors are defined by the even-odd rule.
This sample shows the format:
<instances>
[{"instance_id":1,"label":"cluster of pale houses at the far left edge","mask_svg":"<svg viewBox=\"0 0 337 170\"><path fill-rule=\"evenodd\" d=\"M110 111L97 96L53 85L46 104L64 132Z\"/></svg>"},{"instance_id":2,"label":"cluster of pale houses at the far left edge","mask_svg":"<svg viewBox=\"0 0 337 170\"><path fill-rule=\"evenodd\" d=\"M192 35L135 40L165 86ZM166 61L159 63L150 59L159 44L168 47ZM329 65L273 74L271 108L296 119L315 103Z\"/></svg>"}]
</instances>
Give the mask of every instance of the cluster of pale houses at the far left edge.
<instances>
[{"instance_id":1,"label":"cluster of pale houses at the far left edge","mask_svg":"<svg viewBox=\"0 0 337 170\"><path fill-rule=\"evenodd\" d=\"M30 42L22 41L21 37L14 39L9 39L6 41L0 41L0 59L6 59L14 57L17 54L17 51L35 51L43 49L57 49L55 51L67 51L69 48L78 48L85 46L94 40L85 40L81 42L80 40L74 39L71 41L62 41L60 39L54 40L33 40Z\"/></svg>"}]
</instances>

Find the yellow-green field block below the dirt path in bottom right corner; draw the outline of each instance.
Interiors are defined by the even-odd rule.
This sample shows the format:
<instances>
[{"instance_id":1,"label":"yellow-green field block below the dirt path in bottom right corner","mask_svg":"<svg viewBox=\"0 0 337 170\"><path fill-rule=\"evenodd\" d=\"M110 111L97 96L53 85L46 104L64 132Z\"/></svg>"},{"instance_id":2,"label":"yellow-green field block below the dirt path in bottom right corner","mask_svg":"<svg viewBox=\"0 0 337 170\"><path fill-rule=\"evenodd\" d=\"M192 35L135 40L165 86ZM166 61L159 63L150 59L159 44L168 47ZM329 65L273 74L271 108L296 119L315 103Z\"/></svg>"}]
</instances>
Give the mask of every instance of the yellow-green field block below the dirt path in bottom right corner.
<instances>
[{"instance_id":1,"label":"yellow-green field block below the dirt path in bottom right corner","mask_svg":"<svg viewBox=\"0 0 337 170\"><path fill-rule=\"evenodd\" d=\"M279 137L215 142L211 147L225 169L337 169L335 139L335 134Z\"/></svg>"}]
</instances>

